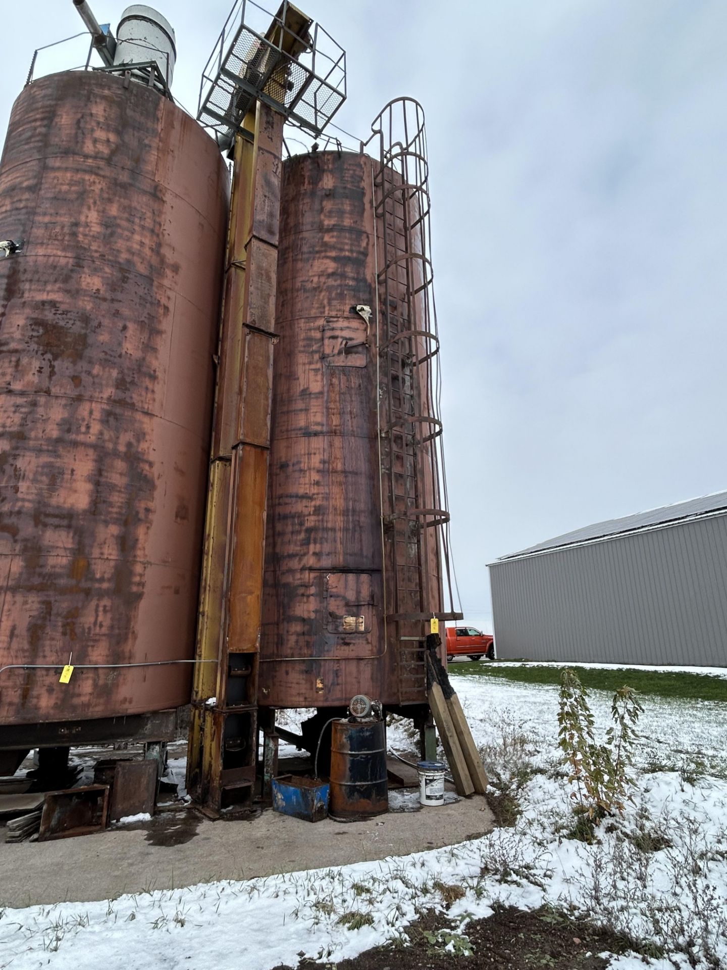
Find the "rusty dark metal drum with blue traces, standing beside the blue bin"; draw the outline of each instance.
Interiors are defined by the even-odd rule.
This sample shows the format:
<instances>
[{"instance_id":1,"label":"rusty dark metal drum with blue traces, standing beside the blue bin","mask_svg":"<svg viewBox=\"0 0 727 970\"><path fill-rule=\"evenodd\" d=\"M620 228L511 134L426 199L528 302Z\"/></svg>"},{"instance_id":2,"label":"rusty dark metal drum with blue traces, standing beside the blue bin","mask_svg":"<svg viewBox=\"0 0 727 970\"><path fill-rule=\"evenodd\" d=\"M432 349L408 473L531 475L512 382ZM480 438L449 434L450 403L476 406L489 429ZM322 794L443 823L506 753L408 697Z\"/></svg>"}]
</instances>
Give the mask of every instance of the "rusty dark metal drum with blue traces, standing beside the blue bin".
<instances>
[{"instance_id":1,"label":"rusty dark metal drum with blue traces, standing beside the blue bin","mask_svg":"<svg viewBox=\"0 0 727 970\"><path fill-rule=\"evenodd\" d=\"M334 721L329 815L343 822L389 811L384 721Z\"/></svg>"}]
</instances>

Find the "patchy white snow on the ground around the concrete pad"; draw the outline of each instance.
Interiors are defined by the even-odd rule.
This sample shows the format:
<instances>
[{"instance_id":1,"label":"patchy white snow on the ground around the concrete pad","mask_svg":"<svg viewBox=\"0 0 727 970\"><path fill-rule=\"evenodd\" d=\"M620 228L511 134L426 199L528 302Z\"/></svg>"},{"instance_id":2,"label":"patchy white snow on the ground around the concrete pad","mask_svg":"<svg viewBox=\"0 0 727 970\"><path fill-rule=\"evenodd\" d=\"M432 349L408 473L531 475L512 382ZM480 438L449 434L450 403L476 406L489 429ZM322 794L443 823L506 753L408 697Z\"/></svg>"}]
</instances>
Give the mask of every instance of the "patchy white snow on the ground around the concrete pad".
<instances>
[{"instance_id":1,"label":"patchy white snow on the ground around the concrete pad","mask_svg":"<svg viewBox=\"0 0 727 970\"><path fill-rule=\"evenodd\" d=\"M296 966L300 954L331 962L400 936L423 908L444 909L443 884L466 890L448 911L464 934L495 901L551 903L648 941L658 970L686 968L685 950L705 970L727 966L727 707L647 697L635 804L587 845L571 837L570 790L557 766L557 689L453 681L490 770L519 791L515 827L408 857L6 910L0 968L270 970ZM610 697L590 700L598 734ZM390 745L411 750L411 738L395 725ZM611 961L614 970L638 966L636 955Z\"/></svg>"}]
</instances>

